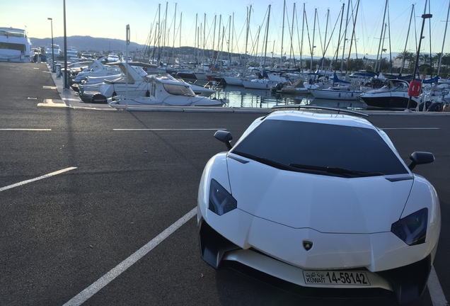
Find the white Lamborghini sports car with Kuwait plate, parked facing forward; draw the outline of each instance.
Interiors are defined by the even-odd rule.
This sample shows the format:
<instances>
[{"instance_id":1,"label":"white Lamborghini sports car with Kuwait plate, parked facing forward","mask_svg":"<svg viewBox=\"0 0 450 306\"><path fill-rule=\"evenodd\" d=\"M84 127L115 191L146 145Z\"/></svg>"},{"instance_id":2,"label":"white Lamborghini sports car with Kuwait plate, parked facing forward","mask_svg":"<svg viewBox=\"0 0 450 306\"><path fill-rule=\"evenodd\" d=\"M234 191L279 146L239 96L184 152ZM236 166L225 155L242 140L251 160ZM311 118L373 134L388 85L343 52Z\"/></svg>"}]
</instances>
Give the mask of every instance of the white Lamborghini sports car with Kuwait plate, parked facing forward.
<instances>
[{"instance_id":1,"label":"white Lamborghini sports car with Kuwait plate, parked facing forward","mask_svg":"<svg viewBox=\"0 0 450 306\"><path fill-rule=\"evenodd\" d=\"M365 114L279 109L255 120L204 167L200 251L300 295L419 298L436 254L441 217L429 181L412 173Z\"/></svg>"}]
</instances>

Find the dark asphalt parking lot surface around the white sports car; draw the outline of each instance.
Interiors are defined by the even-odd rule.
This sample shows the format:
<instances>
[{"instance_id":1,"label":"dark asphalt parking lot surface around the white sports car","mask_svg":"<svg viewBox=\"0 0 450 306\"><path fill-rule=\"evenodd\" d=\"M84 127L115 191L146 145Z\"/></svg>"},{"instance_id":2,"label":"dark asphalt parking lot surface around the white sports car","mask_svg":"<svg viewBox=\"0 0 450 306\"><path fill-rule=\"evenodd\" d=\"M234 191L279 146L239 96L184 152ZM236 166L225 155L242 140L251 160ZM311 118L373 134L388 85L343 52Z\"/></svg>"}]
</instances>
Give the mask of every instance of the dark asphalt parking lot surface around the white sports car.
<instances>
[{"instance_id":1,"label":"dark asphalt parking lot surface around the white sports car","mask_svg":"<svg viewBox=\"0 0 450 306\"><path fill-rule=\"evenodd\" d=\"M200 257L204 164L261 113L101 111L58 101L46 64L0 63L0 305L395 305L299 297ZM44 103L45 104L45 103ZM450 297L450 117L369 117L437 189L442 232L429 290ZM437 283L436 283L437 282Z\"/></svg>"}]
</instances>

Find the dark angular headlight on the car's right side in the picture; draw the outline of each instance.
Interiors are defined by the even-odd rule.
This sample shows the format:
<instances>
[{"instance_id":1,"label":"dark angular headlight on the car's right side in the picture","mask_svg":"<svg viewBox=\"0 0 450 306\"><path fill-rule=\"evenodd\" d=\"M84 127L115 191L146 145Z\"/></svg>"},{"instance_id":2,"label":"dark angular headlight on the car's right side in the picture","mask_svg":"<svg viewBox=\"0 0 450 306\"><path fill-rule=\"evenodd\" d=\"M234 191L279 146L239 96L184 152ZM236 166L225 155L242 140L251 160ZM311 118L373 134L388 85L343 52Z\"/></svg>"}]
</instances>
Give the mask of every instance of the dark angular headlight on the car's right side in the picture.
<instances>
[{"instance_id":1,"label":"dark angular headlight on the car's right side in the picture","mask_svg":"<svg viewBox=\"0 0 450 306\"><path fill-rule=\"evenodd\" d=\"M422 208L393 223L391 232L412 246L425 243L427 236L428 208Z\"/></svg>"}]
</instances>

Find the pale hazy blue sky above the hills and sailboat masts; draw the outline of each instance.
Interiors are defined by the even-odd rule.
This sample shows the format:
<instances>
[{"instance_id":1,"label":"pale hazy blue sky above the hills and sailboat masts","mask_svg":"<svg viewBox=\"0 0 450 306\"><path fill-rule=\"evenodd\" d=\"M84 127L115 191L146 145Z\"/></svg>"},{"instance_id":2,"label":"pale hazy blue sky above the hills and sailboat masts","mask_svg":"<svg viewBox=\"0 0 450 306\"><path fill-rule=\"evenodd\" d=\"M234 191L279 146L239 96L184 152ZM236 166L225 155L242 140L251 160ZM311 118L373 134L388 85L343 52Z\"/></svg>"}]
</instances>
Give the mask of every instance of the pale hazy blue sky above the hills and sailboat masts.
<instances>
[{"instance_id":1,"label":"pale hazy blue sky above the hills and sailboat masts","mask_svg":"<svg viewBox=\"0 0 450 306\"><path fill-rule=\"evenodd\" d=\"M427 2L427 13L430 6L433 17L426 21L424 28L425 39L422 40L420 52L430 52L430 33L432 38L431 52L437 53L442 50L444 40L444 31L447 20L447 11L450 0L429 0ZM16 0L3 1L0 10L0 26L25 28L30 38L50 38L51 26L47 18L53 18L53 36L64 35L64 0ZM302 28L303 35L303 55L311 56L310 45L315 45L314 56L320 56L328 48L325 54L333 57L337 50L337 36L340 29L340 12L342 4L345 3L344 23L347 18L348 0L316 0L308 2L286 1L286 11L284 15L283 31L283 3L284 0L226 0L226 1L207 1L207 0L183 0L183 1L150 1L150 0L128 0L128 1L74 1L66 0L66 32L71 35L88 35L96 38L117 38L125 40L125 27L129 25L131 31L131 41L139 44L149 42L151 33L156 31L156 23L161 21L161 25L166 21L166 45L178 47L180 44L195 45L195 20L197 15L197 28L202 27L200 33L200 47L205 45L214 50L229 50L228 40L233 41L233 52L245 52L246 38L246 18L247 11L252 6L250 15L250 30L248 38L248 52L254 54L265 51L265 30L267 21L267 8L270 10L269 37L267 39L267 55L273 51L279 55L283 53L289 57L291 50L292 19L294 16L294 35L293 48L296 55L300 53L300 42ZM294 3L296 5L296 14L294 13ZM158 14L158 4L161 4L160 14ZM176 4L176 14L175 14ZM386 0L360 0L359 8L356 10L357 0L350 1L349 26L347 27L347 38L349 39L345 46L345 52L348 53L350 47L350 38L352 37L353 20L356 16L356 26L352 43L352 53L357 52L360 57L365 54L376 55L380 48L380 38L384 37L383 57L386 52L403 52L405 49L408 26L412 5L415 4L415 13L412 18L408 46L406 50L416 52L417 39L422 27L422 13L425 10L425 0L415 2L409 0L389 0L388 16L386 14L385 23L389 25L386 28L386 34L382 35L383 14ZM305 23L303 23L303 11L306 11ZM166 9L167 7L167 9ZM329 14L328 14L329 10ZM314 17L316 15L316 26L314 27ZM353 11L353 13L352 13ZM182 14L182 16L181 16ZM357 15L356 15L357 14ZM166 18L167 16L167 18ZM204 27L204 18L206 16L206 27ZM214 16L216 18L216 34L214 37ZM234 22L231 19L234 17ZM327 27L328 16L328 27ZM182 18L181 18L182 17ZM181 27L180 27L181 19ZM224 31L224 40L219 40L219 20L221 19L221 28ZM431 21L431 25L429 25ZM306 26L307 23L307 26ZM233 35L229 35L229 25L234 30ZM303 25L303 26L302 26ZM203 28L204 35L203 35ZM345 26L342 26L342 32ZM175 29L175 34L173 30ZM258 29L260 35L258 36ZM307 30L308 29L308 30ZM315 29L315 30L314 30ZM331 36L332 31L333 36ZM181 33L180 33L181 30ZM383 32L384 33L384 32ZM390 33L390 34L389 34ZM450 38L448 37L450 29L447 30L447 39L444 45L444 53L450 52ZM325 43L325 34L327 42ZM220 34L222 36L222 34ZM174 42L175 37L175 42ZM331 40L330 40L330 37ZM389 39L391 38L389 46ZM154 34L152 34L154 38ZM161 34L161 40L163 34ZM203 40L203 38L206 38ZM259 40L258 40L259 38ZM313 42L314 38L314 42ZM212 42L214 40L214 46ZM328 42L330 40L330 42ZM283 44L282 44L283 41ZM33 42L33 41L32 41ZM161 42L162 43L162 42ZM154 45L151 40L150 45ZM342 42L338 57L342 56Z\"/></svg>"}]
</instances>

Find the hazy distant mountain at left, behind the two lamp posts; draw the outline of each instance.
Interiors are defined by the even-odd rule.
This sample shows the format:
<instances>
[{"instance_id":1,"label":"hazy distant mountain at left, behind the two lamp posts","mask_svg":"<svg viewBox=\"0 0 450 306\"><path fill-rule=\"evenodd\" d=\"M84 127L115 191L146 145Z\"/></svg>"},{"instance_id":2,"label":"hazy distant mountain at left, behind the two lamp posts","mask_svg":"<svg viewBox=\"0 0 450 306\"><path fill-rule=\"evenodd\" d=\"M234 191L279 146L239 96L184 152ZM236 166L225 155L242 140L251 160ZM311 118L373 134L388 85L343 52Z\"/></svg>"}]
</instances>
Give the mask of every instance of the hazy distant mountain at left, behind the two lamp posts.
<instances>
[{"instance_id":1,"label":"hazy distant mountain at left, behind the two lamp posts","mask_svg":"<svg viewBox=\"0 0 450 306\"><path fill-rule=\"evenodd\" d=\"M33 47L47 47L52 43L52 38L30 38ZM64 37L53 38L53 43L64 47ZM67 47L74 47L79 52L100 52L100 51L115 51L125 52L127 45L125 40L110 39L110 38L93 38L91 36L68 36ZM136 42L130 42L128 51L142 51L144 45L139 45Z\"/></svg>"}]
</instances>

